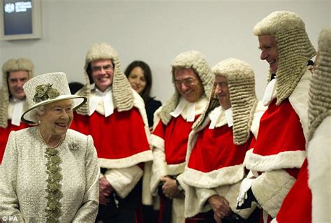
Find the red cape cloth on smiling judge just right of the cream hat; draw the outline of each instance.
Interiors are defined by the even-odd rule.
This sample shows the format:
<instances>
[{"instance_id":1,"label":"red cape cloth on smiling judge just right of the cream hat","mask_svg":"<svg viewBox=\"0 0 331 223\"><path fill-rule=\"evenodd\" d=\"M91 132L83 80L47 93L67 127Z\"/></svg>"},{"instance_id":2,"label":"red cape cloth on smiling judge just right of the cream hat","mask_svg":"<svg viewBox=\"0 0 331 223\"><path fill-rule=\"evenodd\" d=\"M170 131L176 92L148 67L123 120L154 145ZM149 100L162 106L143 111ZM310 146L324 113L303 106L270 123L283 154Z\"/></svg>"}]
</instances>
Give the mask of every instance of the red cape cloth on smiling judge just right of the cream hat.
<instances>
[{"instance_id":1,"label":"red cape cloth on smiling judge just right of the cream hat","mask_svg":"<svg viewBox=\"0 0 331 223\"><path fill-rule=\"evenodd\" d=\"M149 150L138 108L120 113L115 109L108 117L74 113L71 129L93 137L98 158L122 159Z\"/></svg>"}]
</instances>

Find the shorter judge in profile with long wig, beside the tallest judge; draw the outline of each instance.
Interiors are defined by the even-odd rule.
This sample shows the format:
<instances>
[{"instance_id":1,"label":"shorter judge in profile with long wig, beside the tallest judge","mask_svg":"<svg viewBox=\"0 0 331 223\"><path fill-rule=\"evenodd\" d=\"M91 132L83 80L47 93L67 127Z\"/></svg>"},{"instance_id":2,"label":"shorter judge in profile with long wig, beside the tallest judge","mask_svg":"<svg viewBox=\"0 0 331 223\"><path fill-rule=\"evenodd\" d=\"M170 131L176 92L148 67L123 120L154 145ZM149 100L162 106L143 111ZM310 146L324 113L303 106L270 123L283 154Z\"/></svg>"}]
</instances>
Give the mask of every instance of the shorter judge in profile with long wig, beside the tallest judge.
<instances>
[{"instance_id":1,"label":"shorter judge in profile with long wig, beside the tallest judge","mask_svg":"<svg viewBox=\"0 0 331 223\"><path fill-rule=\"evenodd\" d=\"M247 219L256 205L237 210L237 193L246 175L245 154L256 141L266 107L256 98L249 64L230 58L216 64L212 71L214 92L189 136L183 173L185 216L200 217L201 222Z\"/></svg>"}]
</instances>

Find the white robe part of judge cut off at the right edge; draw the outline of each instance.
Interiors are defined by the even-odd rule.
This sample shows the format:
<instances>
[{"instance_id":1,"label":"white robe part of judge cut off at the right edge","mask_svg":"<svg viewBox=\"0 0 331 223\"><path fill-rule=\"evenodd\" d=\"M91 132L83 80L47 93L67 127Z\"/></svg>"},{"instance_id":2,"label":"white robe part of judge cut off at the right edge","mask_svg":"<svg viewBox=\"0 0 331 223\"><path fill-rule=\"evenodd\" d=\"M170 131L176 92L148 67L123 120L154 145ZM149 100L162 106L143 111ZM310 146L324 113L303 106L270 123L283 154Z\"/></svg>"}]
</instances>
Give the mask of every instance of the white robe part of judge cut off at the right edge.
<instances>
[{"instance_id":1,"label":"white robe part of judge cut off at the right edge","mask_svg":"<svg viewBox=\"0 0 331 223\"><path fill-rule=\"evenodd\" d=\"M331 117L326 117L308 143L312 222L331 221Z\"/></svg>"}]
</instances>

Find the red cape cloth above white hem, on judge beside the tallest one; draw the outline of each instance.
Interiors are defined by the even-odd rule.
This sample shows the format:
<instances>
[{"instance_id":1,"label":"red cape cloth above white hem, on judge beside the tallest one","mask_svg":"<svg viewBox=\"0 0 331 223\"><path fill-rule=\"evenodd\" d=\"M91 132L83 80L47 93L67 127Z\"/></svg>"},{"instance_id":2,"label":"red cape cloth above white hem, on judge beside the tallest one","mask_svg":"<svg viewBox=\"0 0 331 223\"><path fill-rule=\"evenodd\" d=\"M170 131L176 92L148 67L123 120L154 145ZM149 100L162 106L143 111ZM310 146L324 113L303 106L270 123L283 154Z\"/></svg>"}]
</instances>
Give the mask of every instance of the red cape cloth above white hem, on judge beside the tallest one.
<instances>
[{"instance_id":1,"label":"red cape cloth above white hem, on judge beside the tallest one","mask_svg":"<svg viewBox=\"0 0 331 223\"><path fill-rule=\"evenodd\" d=\"M203 173L228 166L242 164L247 150L253 148L255 138L251 134L243 145L233 143L233 128L223 125L215 129L205 127L199 132L190 159L189 168Z\"/></svg>"}]
</instances>

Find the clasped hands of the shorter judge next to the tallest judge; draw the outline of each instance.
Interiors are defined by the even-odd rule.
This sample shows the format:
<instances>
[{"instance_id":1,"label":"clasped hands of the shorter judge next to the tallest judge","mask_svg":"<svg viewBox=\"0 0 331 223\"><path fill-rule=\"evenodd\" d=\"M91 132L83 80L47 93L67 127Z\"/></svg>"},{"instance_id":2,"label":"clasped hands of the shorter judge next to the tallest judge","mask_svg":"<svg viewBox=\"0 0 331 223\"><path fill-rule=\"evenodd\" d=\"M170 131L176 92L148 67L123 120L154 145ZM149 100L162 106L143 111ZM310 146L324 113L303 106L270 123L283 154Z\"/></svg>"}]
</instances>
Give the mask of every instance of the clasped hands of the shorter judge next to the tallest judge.
<instances>
[{"instance_id":1,"label":"clasped hands of the shorter judge next to the tallest judge","mask_svg":"<svg viewBox=\"0 0 331 223\"><path fill-rule=\"evenodd\" d=\"M221 223L223 217L230 214L229 203L225 198L223 198L223 196L215 194L209 197L208 203L212 206L212 210L214 211L214 220L217 223Z\"/></svg>"}]
</instances>

